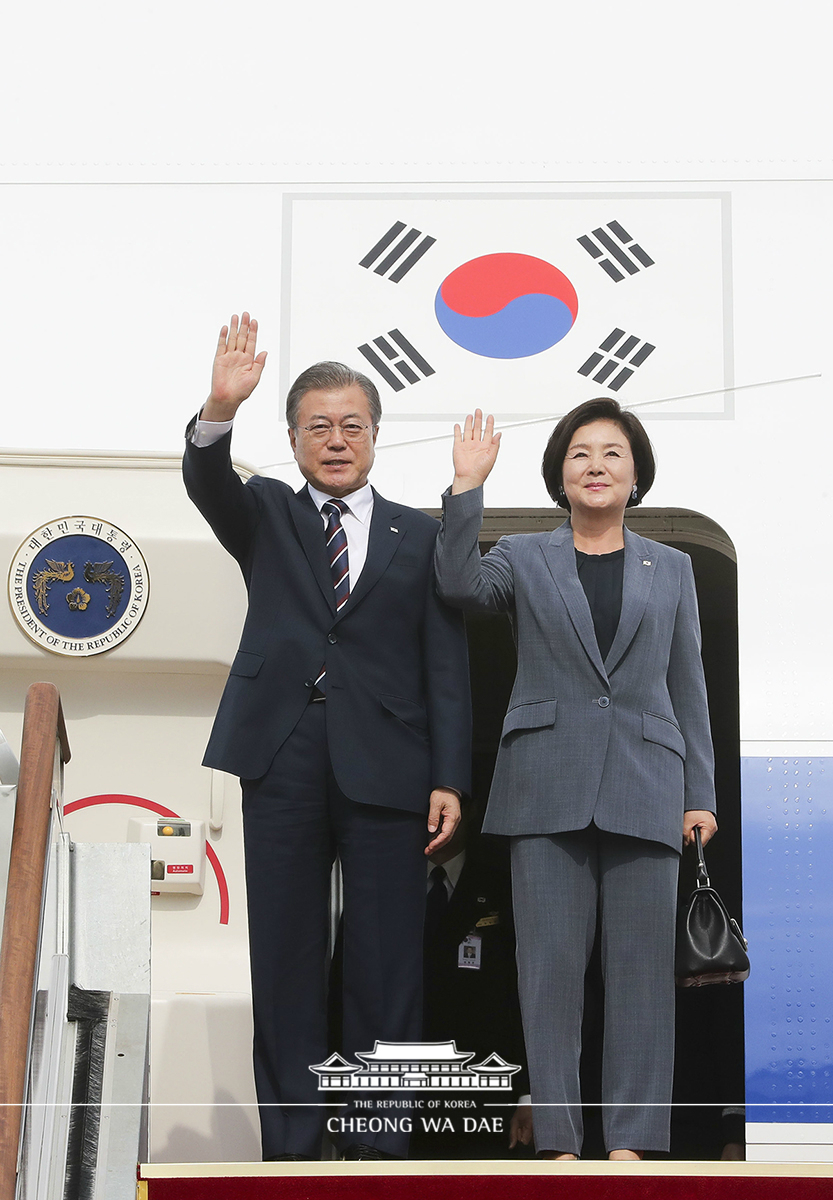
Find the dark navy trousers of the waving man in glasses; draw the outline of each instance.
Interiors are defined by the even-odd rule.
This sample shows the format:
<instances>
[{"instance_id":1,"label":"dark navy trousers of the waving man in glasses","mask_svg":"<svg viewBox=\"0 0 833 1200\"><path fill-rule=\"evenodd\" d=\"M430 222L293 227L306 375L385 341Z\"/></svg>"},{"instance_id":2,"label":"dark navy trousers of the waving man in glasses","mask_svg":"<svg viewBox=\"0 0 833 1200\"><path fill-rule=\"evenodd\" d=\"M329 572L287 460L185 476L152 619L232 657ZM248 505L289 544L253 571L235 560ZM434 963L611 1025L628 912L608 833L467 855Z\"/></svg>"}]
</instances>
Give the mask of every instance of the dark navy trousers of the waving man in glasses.
<instances>
[{"instance_id":1,"label":"dark navy trousers of the waving man in glasses","mask_svg":"<svg viewBox=\"0 0 833 1200\"><path fill-rule=\"evenodd\" d=\"M344 888L344 1055L358 1063L355 1051L372 1050L377 1039L420 1040L425 818L343 794L326 750L325 703L307 707L266 775L242 780L242 792L263 1156L318 1158L329 1117L337 1145L365 1142L404 1157L407 1133L350 1132L352 1104L322 1108L325 1093L310 1067L329 1052L328 901L336 851Z\"/></svg>"}]
</instances>

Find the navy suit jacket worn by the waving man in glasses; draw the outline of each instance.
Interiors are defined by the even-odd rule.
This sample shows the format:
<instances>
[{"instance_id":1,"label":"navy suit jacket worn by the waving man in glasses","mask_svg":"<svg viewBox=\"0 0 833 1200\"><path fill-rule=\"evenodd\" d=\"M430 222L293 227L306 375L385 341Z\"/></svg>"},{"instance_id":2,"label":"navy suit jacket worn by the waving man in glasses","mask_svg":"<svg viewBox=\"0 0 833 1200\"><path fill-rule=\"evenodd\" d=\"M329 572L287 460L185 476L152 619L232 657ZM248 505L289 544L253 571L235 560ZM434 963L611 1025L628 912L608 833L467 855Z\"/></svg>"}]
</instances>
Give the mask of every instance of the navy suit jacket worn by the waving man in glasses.
<instances>
[{"instance_id":1,"label":"navy suit jacket worn by the waving man in glasses","mask_svg":"<svg viewBox=\"0 0 833 1200\"><path fill-rule=\"evenodd\" d=\"M427 811L435 787L468 791L466 632L437 596L438 523L373 493L367 559L336 613L320 515L295 493L232 467L230 433L186 444L188 496L240 564L248 613L205 757L257 779L292 733L326 664L326 727L352 800Z\"/></svg>"}]
</instances>

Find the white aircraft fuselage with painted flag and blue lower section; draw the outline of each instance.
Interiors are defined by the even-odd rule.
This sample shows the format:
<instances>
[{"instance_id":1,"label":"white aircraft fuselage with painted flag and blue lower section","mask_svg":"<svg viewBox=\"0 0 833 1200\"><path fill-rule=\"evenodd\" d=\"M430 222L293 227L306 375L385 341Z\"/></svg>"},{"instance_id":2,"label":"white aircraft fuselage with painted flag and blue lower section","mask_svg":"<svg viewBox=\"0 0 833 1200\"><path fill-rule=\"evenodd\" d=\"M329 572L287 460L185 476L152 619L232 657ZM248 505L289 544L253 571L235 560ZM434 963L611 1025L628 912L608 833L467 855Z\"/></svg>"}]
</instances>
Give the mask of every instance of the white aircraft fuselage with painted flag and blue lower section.
<instances>
[{"instance_id":1,"label":"white aircraft fuselage with painted flag and blue lower section","mask_svg":"<svg viewBox=\"0 0 833 1200\"><path fill-rule=\"evenodd\" d=\"M694 559L714 882L750 947L747 1153L833 1162L829 16L759 18L713 0L11 17L0 728L19 746L28 685L53 680L72 839L157 858L163 824L179 835L151 886L150 1160L259 1158L239 787L200 766L245 590L179 475L216 331L245 307L269 359L235 422L244 475L300 486L282 403L319 359L379 386L390 499L436 510L454 422L496 414L486 542L555 518L561 414L610 395L645 421L657 482L629 522ZM46 565L62 538L90 577ZM23 595L38 570L46 611Z\"/></svg>"}]
</instances>

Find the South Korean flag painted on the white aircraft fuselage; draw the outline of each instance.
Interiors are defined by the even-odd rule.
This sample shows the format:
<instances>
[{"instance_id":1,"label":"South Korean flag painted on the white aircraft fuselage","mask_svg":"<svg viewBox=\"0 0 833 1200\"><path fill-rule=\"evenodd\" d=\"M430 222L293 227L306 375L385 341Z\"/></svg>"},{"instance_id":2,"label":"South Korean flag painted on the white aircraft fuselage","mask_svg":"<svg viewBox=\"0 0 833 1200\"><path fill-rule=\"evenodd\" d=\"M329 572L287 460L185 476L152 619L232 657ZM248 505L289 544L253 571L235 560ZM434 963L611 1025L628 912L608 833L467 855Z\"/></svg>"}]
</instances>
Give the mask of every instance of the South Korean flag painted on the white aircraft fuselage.
<instances>
[{"instance_id":1,"label":"South Korean flag painted on the white aircraft fuselage","mask_svg":"<svg viewBox=\"0 0 833 1200\"><path fill-rule=\"evenodd\" d=\"M534 420L599 395L652 418L730 415L727 203L288 196L283 382L340 359L373 378L388 421L474 403Z\"/></svg>"}]
</instances>

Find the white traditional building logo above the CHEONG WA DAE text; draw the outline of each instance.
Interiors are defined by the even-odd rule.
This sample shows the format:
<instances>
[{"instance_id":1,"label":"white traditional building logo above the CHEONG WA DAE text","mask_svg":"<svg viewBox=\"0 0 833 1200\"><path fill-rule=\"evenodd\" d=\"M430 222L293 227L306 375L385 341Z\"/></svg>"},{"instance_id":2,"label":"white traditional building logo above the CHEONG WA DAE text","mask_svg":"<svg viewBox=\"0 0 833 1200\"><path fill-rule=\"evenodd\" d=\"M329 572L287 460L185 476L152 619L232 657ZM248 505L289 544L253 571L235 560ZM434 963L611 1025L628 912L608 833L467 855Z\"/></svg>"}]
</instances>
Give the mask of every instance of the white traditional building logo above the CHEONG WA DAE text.
<instances>
[{"instance_id":1,"label":"white traditional building logo above the CHEONG WA DAE text","mask_svg":"<svg viewBox=\"0 0 833 1200\"><path fill-rule=\"evenodd\" d=\"M311 1066L318 1075L318 1091L497 1091L511 1088L511 1078L521 1069L495 1052L472 1063L473 1051L457 1050L455 1042L377 1042L355 1057L360 1064L331 1054L325 1062Z\"/></svg>"}]
</instances>

